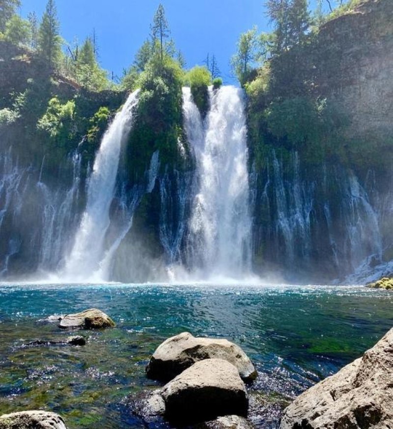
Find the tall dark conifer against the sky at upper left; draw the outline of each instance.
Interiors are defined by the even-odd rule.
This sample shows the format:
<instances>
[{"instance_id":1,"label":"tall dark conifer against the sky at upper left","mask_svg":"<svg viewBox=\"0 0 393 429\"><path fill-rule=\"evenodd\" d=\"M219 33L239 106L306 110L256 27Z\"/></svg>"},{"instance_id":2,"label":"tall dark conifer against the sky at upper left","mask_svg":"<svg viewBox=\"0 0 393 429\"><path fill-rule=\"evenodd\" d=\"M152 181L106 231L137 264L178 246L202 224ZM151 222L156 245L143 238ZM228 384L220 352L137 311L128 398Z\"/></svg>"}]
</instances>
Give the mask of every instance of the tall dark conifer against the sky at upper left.
<instances>
[{"instance_id":1,"label":"tall dark conifer against the sky at upper left","mask_svg":"<svg viewBox=\"0 0 393 429\"><path fill-rule=\"evenodd\" d=\"M38 48L42 57L51 68L58 64L61 56L59 27L55 1L48 0L46 11L42 17L38 31Z\"/></svg>"}]
</instances>

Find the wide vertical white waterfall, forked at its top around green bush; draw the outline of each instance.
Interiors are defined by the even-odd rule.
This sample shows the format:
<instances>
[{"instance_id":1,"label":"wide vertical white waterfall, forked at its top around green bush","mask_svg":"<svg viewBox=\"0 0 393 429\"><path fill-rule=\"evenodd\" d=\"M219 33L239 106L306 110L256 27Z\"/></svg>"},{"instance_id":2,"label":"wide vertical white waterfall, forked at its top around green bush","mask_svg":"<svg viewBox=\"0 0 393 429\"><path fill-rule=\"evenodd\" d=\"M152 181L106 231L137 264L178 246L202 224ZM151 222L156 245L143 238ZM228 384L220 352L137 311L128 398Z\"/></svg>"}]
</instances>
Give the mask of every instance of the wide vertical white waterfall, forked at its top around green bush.
<instances>
[{"instance_id":1,"label":"wide vertical white waterfall, forked at its top around green bush","mask_svg":"<svg viewBox=\"0 0 393 429\"><path fill-rule=\"evenodd\" d=\"M189 90L183 94L198 181L189 221L190 265L202 279L240 278L250 270L251 235L243 92L231 86L209 88L205 123Z\"/></svg>"}]
</instances>

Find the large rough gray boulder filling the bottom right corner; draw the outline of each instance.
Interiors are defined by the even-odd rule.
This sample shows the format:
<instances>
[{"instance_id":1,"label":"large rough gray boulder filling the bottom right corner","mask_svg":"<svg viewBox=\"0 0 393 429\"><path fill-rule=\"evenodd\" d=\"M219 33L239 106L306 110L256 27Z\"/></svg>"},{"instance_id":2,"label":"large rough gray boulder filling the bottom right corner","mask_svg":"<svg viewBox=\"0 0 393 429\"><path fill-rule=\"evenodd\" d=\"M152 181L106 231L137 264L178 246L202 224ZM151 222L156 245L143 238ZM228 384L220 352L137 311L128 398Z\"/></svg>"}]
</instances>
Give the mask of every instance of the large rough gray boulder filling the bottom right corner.
<instances>
[{"instance_id":1,"label":"large rough gray boulder filling the bottom right corner","mask_svg":"<svg viewBox=\"0 0 393 429\"><path fill-rule=\"evenodd\" d=\"M362 358L296 398L280 428L393 428L393 329Z\"/></svg>"}]
</instances>

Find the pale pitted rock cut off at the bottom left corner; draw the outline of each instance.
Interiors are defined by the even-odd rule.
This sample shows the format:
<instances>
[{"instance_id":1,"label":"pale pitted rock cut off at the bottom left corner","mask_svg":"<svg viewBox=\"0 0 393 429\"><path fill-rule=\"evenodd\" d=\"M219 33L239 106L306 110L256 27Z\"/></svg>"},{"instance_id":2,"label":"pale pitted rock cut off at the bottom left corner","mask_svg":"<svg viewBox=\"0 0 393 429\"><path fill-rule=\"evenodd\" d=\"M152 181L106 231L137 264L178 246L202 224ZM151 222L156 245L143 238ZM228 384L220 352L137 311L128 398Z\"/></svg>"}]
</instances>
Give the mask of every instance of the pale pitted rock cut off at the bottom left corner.
<instances>
[{"instance_id":1,"label":"pale pitted rock cut off at the bottom left corner","mask_svg":"<svg viewBox=\"0 0 393 429\"><path fill-rule=\"evenodd\" d=\"M64 420L49 411L21 411L0 416L0 429L67 429Z\"/></svg>"}]
</instances>

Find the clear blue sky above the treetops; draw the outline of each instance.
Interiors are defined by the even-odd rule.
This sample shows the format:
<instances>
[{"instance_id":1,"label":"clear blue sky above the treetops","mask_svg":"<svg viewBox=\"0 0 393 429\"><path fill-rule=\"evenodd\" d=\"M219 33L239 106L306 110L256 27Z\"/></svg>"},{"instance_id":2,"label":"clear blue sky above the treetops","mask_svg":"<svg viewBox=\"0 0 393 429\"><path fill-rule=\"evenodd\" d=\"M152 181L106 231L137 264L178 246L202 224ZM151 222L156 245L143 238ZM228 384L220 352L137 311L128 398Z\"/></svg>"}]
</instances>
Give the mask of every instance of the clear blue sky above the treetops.
<instances>
[{"instance_id":1,"label":"clear blue sky above the treetops","mask_svg":"<svg viewBox=\"0 0 393 429\"><path fill-rule=\"evenodd\" d=\"M35 11L39 17L47 0L22 0L21 15ZM255 24L270 31L264 0L162 0L171 36L187 61L202 64L207 53L215 54L226 83L232 83L229 59L241 32ZM148 37L159 0L56 0L60 32L72 43L80 42L95 28L99 60L105 69L120 76Z\"/></svg>"}]
</instances>

